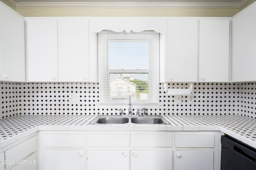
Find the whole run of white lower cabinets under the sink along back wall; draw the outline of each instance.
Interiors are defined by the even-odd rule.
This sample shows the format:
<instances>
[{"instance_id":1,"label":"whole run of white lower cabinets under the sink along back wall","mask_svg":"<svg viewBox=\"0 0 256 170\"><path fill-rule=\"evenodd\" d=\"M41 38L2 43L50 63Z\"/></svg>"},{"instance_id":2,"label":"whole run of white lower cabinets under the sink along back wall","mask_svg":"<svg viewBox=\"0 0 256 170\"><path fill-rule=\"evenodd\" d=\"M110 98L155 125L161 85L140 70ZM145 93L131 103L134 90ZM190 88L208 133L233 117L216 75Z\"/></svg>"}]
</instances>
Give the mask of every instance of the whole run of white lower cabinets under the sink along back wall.
<instances>
[{"instance_id":1,"label":"whole run of white lower cabinets under the sink along back wall","mask_svg":"<svg viewBox=\"0 0 256 170\"><path fill-rule=\"evenodd\" d=\"M42 131L39 170L220 170L216 131Z\"/></svg>"}]
</instances>

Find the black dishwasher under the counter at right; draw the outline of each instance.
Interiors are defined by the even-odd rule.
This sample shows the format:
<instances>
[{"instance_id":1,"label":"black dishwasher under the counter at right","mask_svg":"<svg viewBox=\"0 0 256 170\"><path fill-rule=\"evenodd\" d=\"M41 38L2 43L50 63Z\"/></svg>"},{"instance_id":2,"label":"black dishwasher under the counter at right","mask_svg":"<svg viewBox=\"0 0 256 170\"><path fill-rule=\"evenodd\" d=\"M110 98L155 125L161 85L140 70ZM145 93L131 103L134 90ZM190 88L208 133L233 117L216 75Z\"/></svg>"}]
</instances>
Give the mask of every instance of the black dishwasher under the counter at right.
<instances>
[{"instance_id":1,"label":"black dishwasher under the counter at right","mask_svg":"<svg viewBox=\"0 0 256 170\"><path fill-rule=\"evenodd\" d=\"M256 170L256 149L228 135L221 137L220 170Z\"/></svg>"}]
</instances>

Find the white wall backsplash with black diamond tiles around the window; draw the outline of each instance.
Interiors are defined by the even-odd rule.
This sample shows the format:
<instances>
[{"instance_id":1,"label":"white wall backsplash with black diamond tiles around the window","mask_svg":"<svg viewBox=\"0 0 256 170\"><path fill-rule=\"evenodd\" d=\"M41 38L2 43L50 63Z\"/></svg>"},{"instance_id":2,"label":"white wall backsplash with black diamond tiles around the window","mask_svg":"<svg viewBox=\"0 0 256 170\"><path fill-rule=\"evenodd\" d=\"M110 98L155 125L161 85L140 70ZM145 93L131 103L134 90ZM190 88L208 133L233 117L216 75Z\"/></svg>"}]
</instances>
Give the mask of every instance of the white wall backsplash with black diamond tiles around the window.
<instances>
[{"instance_id":1,"label":"white wall backsplash with black diamond tiles around the window","mask_svg":"<svg viewBox=\"0 0 256 170\"><path fill-rule=\"evenodd\" d=\"M169 84L169 88L188 88L188 84ZM78 102L68 102L70 92ZM194 102L164 92L159 85L160 107L147 107L149 115L244 115L256 118L256 83L194 83ZM98 107L98 84L81 83L0 83L0 119L14 115L98 115L119 114L116 108ZM128 110L127 107L123 108ZM136 113L136 108L133 110Z\"/></svg>"}]
</instances>

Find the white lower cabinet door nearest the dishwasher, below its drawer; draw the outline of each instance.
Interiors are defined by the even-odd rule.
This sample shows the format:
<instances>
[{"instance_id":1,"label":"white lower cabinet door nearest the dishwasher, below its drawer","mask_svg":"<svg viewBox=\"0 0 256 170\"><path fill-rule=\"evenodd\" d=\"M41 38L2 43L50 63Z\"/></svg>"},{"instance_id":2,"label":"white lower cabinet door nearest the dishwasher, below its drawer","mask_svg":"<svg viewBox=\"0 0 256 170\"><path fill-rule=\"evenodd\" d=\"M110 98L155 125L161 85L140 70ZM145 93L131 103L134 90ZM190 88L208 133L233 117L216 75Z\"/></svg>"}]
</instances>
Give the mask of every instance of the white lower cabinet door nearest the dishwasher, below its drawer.
<instances>
[{"instance_id":1,"label":"white lower cabinet door nearest the dishwasher, below its drawer","mask_svg":"<svg viewBox=\"0 0 256 170\"><path fill-rule=\"evenodd\" d=\"M213 170L213 150L175 150L174 170Z\"/></svg>"}]
</instances>

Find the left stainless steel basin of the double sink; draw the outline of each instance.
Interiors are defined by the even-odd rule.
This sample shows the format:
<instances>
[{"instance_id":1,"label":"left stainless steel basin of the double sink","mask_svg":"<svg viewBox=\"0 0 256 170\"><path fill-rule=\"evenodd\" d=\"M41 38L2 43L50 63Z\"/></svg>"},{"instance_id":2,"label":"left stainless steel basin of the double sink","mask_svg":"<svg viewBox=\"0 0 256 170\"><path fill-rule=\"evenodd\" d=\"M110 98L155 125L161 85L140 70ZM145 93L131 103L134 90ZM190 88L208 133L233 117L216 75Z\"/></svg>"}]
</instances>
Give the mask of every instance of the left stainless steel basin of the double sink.
<instances>
[{"instance_id":1,"label":"left stainless steel basin of the double sink","mask_svg":"<svg viewBox=\"0 0 256 170\"><path fill-rule=\"evenodd\" d=\"M102 116L98 117L95 120L95 123L102 123L102 124L124 124L128 123L128 117L120 117L120 116Z\"/></svg>"}]
</instances>

